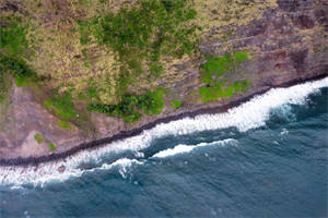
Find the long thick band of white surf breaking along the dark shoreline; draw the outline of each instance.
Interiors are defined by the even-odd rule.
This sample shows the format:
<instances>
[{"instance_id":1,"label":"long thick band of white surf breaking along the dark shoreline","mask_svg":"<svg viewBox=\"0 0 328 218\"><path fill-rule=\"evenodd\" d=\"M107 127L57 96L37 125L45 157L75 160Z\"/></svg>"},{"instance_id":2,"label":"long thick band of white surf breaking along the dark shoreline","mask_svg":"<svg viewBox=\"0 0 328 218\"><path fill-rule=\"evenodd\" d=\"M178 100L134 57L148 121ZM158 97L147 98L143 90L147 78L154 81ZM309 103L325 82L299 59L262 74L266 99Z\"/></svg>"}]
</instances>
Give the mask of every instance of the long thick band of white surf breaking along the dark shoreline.
<instances>
[{"instance_id":1,"label":"long thick band of white surf breaking along the dark shoreline","mask_svg":"<svg viewBox=\"0 0 328 218\"><path fill-rule=\"evenodd\" d=\"M79 169L79 165L83 162L99 162L102 157L108 154L144 149L150 146L154 138L164 135L189 134L197 131L231 126L235 126L242 132L258 128L265 125L272 108L278 108L285 104L303 105L306 101L306 96L327 86L328 77L289 88L273 88L261 96L254 97L239 107L230 109L225 113L202 114L196 118L185 118L169 123L157 124L151 130L143 131L138 136L117 141L93 150L82 150L66 158L65 161L42 164L38 168L0 167L0 184L20 185L32 183L36 185L44 184L48 181L56 180L60 182L71 177L80 177L84 171L92 171ZM180 149L186 148L180 147ZM138 156L138 153L136 154ZM139 154L139 156L141 154ZM58 168L62 165L66 167L66 171L60 173Z\"/></svg>"}]
</instances>

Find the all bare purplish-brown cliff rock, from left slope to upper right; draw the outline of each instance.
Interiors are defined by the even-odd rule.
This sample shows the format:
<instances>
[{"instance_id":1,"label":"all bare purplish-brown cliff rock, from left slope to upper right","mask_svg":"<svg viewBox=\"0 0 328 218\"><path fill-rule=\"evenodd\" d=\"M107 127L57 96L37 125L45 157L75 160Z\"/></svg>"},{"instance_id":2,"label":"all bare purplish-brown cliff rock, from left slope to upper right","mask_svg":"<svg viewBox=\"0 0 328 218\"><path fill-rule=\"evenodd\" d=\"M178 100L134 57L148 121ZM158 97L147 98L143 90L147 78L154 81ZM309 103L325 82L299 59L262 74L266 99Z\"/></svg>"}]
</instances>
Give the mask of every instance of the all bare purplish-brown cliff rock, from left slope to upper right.
<instances>
[{"instance_id":1,"label":"all bare purplish-brown cliff rock, from left slope to upper right","mask_svg":"<svg viewBox=\"0 0 328 218\"><path fill-rule=\"evenodd\" d=\"M159 119L176 119L178 114L190 111L209 112L207 108L220 108L270 87L328 75L327 11L328 4L325 1L278 0L276 7L263 7L261 15L257 17L255 14L255 19L245 25L232 23L212 27L204 36L204 43L199 46L200 51L206 56L222 56L227 51L247 50L249 58L239 66L242 73L231 75L233 80L248 80L251 83L246 93L202 102L192 95L195 88L203 85L199 81L199 69L195 68L195 60L186 60L169 66L172 75L178 74L179 80L172 82L169 77L164 77L160 81L171 88L172 96L184 99L181 107L172 109L166 106L162 113L145 116L132 124L93 112L90 122L94 134L85 134L84 130L77 126L61 129L56 116L38 102L38 96L31 88L14 85L10 100L1 106L0 158L63 153L81 143L139 129ZM216 34L232 27L234 31L226 37ZM196 65L200 65L204 59L196 62ZM34 138L36 133L43 135L42 143ZM56 144L57 149L49 150L46 145L48 142Z\"/></svg>"}]
</instances>

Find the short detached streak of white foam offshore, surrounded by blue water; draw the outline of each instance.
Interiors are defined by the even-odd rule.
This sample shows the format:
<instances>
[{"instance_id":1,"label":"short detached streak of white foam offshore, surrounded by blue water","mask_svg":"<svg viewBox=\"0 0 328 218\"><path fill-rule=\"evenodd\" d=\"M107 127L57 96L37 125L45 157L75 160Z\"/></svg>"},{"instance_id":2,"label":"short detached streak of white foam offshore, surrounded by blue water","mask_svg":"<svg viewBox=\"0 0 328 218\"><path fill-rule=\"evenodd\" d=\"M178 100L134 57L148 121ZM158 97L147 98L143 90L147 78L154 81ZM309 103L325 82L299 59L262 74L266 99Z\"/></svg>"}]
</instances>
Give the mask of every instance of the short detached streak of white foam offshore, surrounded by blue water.
<instances>
[{"instance_id":1,"label":"short detached streak of white foam offshore, surrounded by blue water","mask_svg":"<svg viewBox=\"0 0 328 218\"><path fill-rule=\"evenodd\" d=\"M184 153L189 153L192 149L195 149L196 147L202 147L202 146L209 146L209 145L236 145L237 141L233 140L233 138L226 138L223 141L216 141L216 142L212 142L212 143L200 143L197 145L177 145L174 148L168 148L165 150L161 150L159 153L156 153L155 155L153 155L153 157L156 158L165 158L165 157L171 157L171 156L175 156L175 155L179 155L179 154L184 154Z\"/></svg>"}]
</instances>

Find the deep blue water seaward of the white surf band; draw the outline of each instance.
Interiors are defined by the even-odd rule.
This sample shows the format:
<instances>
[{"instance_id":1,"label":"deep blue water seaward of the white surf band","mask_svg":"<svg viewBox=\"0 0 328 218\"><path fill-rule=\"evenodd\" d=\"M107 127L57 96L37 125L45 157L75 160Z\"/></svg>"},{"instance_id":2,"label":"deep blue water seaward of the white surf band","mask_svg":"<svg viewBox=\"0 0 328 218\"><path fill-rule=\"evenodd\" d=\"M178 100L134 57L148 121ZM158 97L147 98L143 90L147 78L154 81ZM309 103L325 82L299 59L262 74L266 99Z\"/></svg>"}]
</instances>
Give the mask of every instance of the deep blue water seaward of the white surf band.
<instances>
[{"instance_id":1,"label":"deep blue water seaward of the white surf band","mask_svg":"<svg viewBox=\"0 0 328 218\"><path fill-rule=\"evenodd\" d=\"M324 88L303 106L273 109L255 130L155 140L142 164L44 186L0 185L0 217L327 217L327 106Z\"/></svg>"}]
</instances>

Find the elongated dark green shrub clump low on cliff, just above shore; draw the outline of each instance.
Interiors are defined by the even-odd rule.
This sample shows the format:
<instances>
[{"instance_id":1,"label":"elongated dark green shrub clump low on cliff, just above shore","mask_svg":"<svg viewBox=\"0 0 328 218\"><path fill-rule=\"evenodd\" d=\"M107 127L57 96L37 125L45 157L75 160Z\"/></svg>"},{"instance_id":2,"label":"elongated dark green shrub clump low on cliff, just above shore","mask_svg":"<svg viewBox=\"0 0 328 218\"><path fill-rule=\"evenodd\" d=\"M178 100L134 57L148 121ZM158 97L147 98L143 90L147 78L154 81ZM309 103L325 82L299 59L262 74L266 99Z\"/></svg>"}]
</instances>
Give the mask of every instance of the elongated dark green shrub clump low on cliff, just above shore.
<instances>
[{"instance_id":1,"label":"elongated dark green shrub clump low on cliff, just above shore","mask_svg":"<svg viewBox=\"0 0 328 218\"><path fill-rule=\"evenodd\" d=\"M157 114L164 107L164 88L156 88L154 92L147 92L142 95L126 94L117 105L104 105L99 102L89 104L90 111L97 111L122 118L126 122L134 122L141 118L141 112Z\"/></svg>"}]
</instances>

